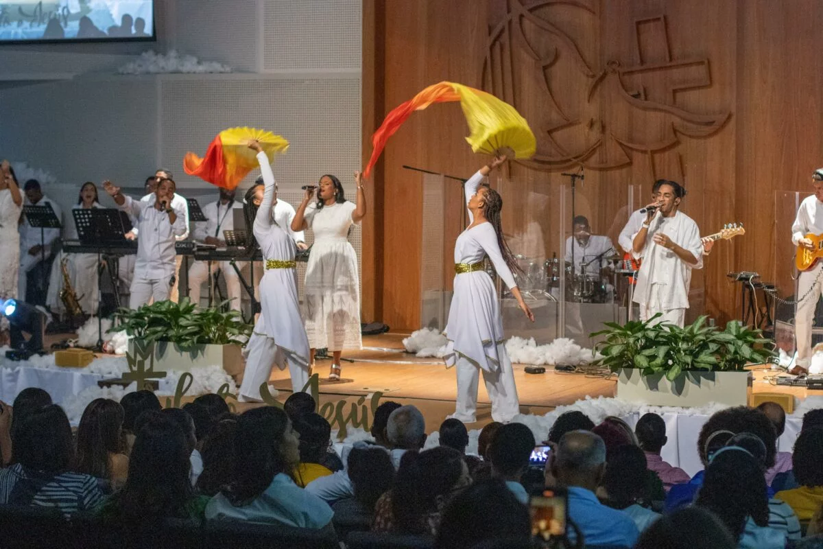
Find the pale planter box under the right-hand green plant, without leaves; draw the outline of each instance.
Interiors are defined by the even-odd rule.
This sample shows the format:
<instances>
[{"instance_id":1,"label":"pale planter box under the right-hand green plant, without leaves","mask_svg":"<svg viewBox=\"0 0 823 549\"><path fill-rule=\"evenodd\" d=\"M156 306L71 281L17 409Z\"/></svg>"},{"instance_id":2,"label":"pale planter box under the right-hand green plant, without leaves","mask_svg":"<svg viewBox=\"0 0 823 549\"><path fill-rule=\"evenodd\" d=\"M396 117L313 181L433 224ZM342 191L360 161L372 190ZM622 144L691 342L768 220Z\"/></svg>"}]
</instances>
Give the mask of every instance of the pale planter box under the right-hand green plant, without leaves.
<instances>
[{"instance_id":1,"label":"pale planter box under the right-hand green plant, without leaves","mask_svg":"<svg viewBox=\"0 0 823 549\"><path fill-rule=\"evenodd\" d=\"M617 398L652 406L748 406L750 397L751 372L688 371L669 381L663 374L641 375L636 368L624 368L617 379Z\"/></svg>"}]
</instances>

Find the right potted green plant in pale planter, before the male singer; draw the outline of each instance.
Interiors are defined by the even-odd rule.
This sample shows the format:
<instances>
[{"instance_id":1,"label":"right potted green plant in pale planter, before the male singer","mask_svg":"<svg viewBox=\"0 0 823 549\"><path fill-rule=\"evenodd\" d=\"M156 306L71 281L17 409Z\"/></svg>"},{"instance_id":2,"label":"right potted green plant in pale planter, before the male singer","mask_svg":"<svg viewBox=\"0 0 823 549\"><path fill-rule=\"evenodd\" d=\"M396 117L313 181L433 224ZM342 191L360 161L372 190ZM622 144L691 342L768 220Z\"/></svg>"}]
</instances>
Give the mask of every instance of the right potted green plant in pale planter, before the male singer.
<instances>
[{"instance_id":1,"label":"right potted green plant in pale planter, before the male singer","mask_svg":"<svg viewBox=\"0 0 823 549\"><path fill-rule=\"evenodd\" d=\"M606 323L607 329L592 334L603 337L595 347L601 355L595 363L618 375L618 398L656 406L748 402L751 372L746 366L774 356L774 342L737 320L720 330L701 316L680 328L657 323L658 316Z\"/></svg>"}]
</instances>

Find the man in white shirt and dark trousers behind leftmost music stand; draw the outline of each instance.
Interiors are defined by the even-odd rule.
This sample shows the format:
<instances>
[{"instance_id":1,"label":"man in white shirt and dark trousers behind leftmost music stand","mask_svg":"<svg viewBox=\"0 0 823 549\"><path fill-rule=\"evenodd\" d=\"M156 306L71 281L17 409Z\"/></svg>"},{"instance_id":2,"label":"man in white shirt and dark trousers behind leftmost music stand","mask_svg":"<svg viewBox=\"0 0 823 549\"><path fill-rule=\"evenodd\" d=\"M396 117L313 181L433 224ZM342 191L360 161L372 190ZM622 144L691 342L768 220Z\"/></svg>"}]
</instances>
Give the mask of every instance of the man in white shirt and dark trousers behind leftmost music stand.
<instances>
[{"instance_id":1,"label":"man in white shirt and dark trousers behind leftmost music stand","mask_svg":"<svg viewBox=\"0 0 823 549\"><path fill-rule=\"evenodd\" d=\"M61 220L60 207L57 202L43 194L40 182L37 179L29 179L23 186L26 194L24 206L44 206L50 204L54 215ZM59 229L44 229L42 244L40 241L40 229L30 226L26 216L20 225L20 270L18 271L17 295L21 300L26 300L33 305L45 305L46 293L49 285L49 274L45 269L49 267L49 258L52 255L52 245L60 238ZM41 264L43 263L43 264ZM31 295L26 296L26 291L31 283Z\"/></svg>"}]
</instances>

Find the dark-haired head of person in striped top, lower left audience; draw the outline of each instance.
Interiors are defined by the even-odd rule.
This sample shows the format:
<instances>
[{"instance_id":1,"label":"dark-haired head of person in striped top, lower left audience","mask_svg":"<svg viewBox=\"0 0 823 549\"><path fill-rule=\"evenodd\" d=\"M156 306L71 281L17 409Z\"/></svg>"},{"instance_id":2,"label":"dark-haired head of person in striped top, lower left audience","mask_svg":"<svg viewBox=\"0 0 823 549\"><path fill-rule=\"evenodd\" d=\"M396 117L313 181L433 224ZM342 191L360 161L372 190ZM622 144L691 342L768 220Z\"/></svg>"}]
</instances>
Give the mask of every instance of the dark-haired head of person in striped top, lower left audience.
<instances>
[{"instance_id":1,"label":"dark-haired head of person in striped top, lower left audience","mask_svg":"<svg viewBox=\"0 0 823 549\"><path fill-rule=\"evenodd\" d=\"M26 414L12 445L14 461L30 471L60 474L76 465L72 427L57 404Z\"/></svg>"}]
</instances>

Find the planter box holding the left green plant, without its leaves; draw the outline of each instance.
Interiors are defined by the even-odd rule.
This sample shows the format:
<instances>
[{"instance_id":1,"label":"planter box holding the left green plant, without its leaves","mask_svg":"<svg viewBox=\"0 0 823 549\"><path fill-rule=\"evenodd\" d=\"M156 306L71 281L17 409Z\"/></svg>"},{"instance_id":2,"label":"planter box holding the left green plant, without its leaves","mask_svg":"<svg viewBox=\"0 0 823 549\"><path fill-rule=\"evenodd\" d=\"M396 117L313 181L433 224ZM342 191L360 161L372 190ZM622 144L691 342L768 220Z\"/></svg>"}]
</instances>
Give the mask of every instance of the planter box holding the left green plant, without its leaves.
<instances>
[{"instance_id":1,"label":"planter box holding the left green plant, without its leaves","mask_svg":"<svg viewBox=\"0 0 823 549\"><path fill-rule=\"evenodd\" d=\"M243 375L244 360L239 345L196 345L182 349L170 342L156 342L154 347L154 370L191 371L211 365L219 365L226 374L235 379ZM134 340L128 342L128 352L136 355ZM146 368L149 365L146 364Z\"/></svg>"}]
</instances>

